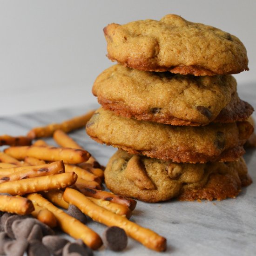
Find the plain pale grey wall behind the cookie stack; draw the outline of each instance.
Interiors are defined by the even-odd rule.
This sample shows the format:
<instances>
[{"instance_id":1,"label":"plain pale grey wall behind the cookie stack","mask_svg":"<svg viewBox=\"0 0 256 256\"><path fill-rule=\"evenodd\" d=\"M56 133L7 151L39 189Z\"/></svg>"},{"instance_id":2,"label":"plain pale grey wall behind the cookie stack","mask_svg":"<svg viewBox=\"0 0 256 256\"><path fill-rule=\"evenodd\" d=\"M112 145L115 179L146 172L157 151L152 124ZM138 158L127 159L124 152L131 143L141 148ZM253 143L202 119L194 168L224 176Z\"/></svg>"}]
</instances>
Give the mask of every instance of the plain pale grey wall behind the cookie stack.
<instances>
[{"instance_id":1,"label":"plain pale grey wall behind the cookie stack","mask_svg":"<svg viewBox=\"0 0 256 256\"><path fill-rule=\"evenodd\" d=\"M235 76L253 84L255 10L255 0L1 0L0 116L96 102L94 79L112 65L103 27L168 13L238 36L250 71Z\"/></svg>"}]
</instances>

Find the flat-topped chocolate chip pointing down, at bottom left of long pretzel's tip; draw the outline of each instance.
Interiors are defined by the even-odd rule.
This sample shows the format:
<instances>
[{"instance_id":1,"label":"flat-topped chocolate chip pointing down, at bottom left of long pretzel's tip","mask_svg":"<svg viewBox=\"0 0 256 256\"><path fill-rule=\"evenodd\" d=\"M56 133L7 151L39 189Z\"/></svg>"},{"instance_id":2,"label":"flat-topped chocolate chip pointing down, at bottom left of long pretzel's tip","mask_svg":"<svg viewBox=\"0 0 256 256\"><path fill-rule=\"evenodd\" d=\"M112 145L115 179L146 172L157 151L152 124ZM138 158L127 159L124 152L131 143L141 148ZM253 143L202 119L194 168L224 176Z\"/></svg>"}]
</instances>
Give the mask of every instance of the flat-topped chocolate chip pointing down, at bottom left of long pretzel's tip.
<instances>
[{"instance_id":1,"label":"flat-topped chocolate chip pointing down, at bottom left of long pretzel's tip","mask_svg":"<svg viewBox=\"0 0 256 256\"><path fill-rule=\"evenodd\" d=\"M54 256L61 256L63 247L69 243L69 241L59 236L44 236L42 243Z\"/></svg>"}]
</instances>

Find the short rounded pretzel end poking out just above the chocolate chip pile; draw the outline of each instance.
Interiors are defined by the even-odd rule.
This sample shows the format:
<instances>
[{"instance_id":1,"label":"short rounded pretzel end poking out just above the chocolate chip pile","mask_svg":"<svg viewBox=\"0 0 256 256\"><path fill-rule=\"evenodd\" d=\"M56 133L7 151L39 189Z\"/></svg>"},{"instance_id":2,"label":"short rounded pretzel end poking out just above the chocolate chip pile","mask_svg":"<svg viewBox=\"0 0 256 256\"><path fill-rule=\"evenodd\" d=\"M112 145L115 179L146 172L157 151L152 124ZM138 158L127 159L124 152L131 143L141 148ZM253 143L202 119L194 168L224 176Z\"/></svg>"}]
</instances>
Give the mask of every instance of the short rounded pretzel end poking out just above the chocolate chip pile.
<instances>
[{"instance_id":1,"label":"short rounded pretzel end poking out just above the chocolate chip pile","mask_svg":"<svg viewBox=\"0 0 256 256\"><path fill-rule=\"evenodd\" d=\"M57 226L57 219L54 216L54 214L49 211L48 209L39 206L37 203L34 204L34 211L31 213L31 215L34 218L37 218L40 222L45 223L50 228L55 228Z\"/></svg>"}]
</instances>

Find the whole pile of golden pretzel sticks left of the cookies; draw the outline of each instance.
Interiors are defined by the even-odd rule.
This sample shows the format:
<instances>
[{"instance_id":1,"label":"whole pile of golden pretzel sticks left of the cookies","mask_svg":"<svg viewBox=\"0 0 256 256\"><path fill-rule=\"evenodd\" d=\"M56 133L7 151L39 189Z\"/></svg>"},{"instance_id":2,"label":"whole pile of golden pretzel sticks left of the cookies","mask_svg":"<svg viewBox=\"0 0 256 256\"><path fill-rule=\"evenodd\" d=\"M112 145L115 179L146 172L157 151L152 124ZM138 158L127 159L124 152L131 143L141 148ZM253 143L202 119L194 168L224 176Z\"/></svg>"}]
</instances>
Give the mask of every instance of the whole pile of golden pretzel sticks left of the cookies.
<instances>
[{"instance_id":1,"label":"whole pile of golden pretzel sticks left of the cookies","mask_svg":"<svg viewBox=\"0 0 256 256\"><path fill-rule=\"evenodd\" d=\"M0 146L10 146L0 152L0 193L11 195L0 195L0 211L32 214L91 249L100 248L101 237L66 213L73 204L94 221L120 227L149 249L164 251L164 237L128 220L136 201L103 191L104 167L67 135L83 128L93 113L33 128L27 136L0 135ZM53 137L59 147L44 137Z\"/></svg>"}]
</instances>

